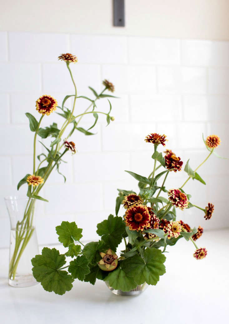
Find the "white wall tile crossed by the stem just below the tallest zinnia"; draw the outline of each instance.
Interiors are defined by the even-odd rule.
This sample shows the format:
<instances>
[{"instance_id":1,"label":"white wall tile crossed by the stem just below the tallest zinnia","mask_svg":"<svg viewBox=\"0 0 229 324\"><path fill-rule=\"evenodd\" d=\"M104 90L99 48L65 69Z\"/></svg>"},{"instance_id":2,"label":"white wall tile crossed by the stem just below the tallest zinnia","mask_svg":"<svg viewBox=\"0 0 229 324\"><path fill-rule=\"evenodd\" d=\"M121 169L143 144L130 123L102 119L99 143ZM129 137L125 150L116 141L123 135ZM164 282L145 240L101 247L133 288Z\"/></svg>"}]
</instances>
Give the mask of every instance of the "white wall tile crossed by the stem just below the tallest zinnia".
<instances>
[{"instance_id":1,"label":"white wall tile crossed by the stem just below the tallest zinnia","mask_svg":"<svg viewBox=\"0 0 229 324\"><path fill-rule=\"evenodd\" d=\"M74 94L74 87L66 64L43 64L43 91L45 93L66 92L66 95ZM95 90L100 89L100 67L95 64L72 64L71 71L76 83L79 96L92 94L88 86ZM99 90L98 90L99 91Z\"/></svg>"}]
</instances>

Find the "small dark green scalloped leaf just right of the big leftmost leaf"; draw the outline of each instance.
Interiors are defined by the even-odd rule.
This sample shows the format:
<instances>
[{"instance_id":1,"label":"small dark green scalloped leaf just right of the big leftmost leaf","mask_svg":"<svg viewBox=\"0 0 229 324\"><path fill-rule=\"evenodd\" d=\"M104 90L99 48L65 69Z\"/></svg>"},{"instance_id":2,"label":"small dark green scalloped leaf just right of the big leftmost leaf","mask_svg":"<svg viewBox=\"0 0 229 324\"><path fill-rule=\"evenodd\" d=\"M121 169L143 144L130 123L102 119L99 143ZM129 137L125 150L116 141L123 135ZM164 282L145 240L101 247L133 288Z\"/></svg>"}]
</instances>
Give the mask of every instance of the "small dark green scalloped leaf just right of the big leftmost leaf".
<instances>
[{"instance_id":1,"label":"small dark green scalloped leaf just right of the big leftmost leaf","mask_svg":"<svg viewBox=\"0 0 229 324\"><path fill-rule=\"evenodd\" d=\"M73 261L70 261L69 264L68 271L71 273L71 276L80 281L83 281L85 275L90 272L88 260L85 255L78 255L78 257Z\"/></svg>"}]
</instances>

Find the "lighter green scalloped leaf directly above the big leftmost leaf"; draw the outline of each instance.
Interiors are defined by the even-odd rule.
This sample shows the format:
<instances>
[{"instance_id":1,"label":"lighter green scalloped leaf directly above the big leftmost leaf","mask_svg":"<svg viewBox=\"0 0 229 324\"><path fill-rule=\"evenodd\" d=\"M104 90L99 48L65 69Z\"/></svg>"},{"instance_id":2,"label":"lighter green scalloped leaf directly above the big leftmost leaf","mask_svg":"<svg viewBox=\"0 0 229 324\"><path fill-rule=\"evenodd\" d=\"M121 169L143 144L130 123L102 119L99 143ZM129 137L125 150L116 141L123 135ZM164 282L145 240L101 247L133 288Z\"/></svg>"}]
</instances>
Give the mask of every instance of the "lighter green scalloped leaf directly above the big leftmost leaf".
<instances>
[{"instance_id":1,"label":"lighter green scalloped leaf directly above the big leftmost leaf","mask_svg":"<svg viewBox=\"0 0 229 324\"><path fill-rule=\"evenodd\" d=\"M56 232L59 235L60 243L63 243L65 248L82 237L82 228L78 228L75 222L63 221L60 226L56 226Z\"/></svg>"}]
</instances>

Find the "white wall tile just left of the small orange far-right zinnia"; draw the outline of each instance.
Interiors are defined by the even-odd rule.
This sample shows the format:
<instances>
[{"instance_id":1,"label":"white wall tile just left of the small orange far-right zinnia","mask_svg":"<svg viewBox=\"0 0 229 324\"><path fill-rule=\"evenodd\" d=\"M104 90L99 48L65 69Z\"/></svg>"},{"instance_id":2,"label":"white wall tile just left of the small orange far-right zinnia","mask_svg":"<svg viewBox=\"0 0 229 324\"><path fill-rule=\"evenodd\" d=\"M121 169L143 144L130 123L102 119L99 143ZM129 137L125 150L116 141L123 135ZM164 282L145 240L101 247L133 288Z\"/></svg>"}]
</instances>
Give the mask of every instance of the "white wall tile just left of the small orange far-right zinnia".
<instances>
[{"instance_id":1,"label":"white wall tile just left of the small orange far-right zinnia","mask_svg":"<svg viewBox=\"0 0 229 324\"><path fill-rule=\"evenodd\" d=\"M202 133L205 133L205 129L204 123L180 123L178 125L180 148L203 148Z\"/></svg>"}]
</instances>

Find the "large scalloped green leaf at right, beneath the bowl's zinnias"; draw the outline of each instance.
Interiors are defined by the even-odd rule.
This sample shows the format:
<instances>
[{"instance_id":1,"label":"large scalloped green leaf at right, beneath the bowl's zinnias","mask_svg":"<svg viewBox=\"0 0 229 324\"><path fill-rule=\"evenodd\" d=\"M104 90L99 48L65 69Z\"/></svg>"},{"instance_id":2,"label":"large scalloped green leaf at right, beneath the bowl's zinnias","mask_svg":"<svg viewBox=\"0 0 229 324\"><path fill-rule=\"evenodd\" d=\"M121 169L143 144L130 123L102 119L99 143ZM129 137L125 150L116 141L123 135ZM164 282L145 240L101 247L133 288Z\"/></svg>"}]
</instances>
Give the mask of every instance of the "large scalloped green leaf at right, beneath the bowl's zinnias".
<instances>
[{"instance_id":1,"label":"large scalloped green leaf at right, beneath the bowl's zinnias","mask_svg":"<svg viewBox=\"0 0 229 324\"><path fill-rule=\"evenodd\" d=\"M147 248L144 251L144 259L136 254L123 261L122 269L128 276L133 276L138 285L144 282L156 285L159 281L159 276L165 273L163 263L166 257L159 249Z\"/></svg>"}]
</instances>

